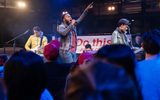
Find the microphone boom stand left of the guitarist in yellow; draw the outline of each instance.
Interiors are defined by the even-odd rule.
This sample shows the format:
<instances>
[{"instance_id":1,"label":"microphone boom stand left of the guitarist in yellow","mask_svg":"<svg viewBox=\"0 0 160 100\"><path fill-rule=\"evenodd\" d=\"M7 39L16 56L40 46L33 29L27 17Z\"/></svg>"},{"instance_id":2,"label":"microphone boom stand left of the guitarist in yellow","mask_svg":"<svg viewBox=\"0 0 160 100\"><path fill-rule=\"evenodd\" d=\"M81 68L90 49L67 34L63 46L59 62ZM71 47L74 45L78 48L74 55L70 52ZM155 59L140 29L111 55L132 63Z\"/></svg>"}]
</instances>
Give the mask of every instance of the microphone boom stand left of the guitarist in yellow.
<instances>
[{"instance_id":1,"label":"microphone boom stand left of the guitarist in yellow","mask_svg":"<svg viewBox=\"0 0 160 100\"><path fill-rule=\"evenodd\" d=\"M5 42L5 44L8 44L8 43L10 43L10 42L13 41L13 52L15 53L15 51L16 51L16 40L17 40L18 38L22 37L23 35L27 34L28 32L29 32L29 29L26 30L26 31L25 31L24 33L22 33L22 34L17 35L17 36L14 37L13 39ZM4 53L6 53L5 48L4 48Z\"/></svg>"}]
</instances>

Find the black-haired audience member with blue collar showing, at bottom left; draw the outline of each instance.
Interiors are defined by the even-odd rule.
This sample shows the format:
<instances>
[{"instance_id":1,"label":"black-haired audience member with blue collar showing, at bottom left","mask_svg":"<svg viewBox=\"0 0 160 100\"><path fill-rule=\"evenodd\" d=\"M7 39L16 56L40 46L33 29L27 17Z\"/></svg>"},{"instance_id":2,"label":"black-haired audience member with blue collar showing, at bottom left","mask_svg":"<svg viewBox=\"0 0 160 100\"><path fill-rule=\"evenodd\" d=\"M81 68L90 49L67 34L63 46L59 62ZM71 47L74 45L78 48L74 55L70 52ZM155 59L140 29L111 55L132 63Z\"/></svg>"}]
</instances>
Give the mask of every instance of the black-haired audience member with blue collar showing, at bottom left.
<instances>
[{"instance_id":1,"label":"black-haired audience member with blue collar showing, at bottom left","mask_svg":"<svg viewBox=\"0 0 160 100\"><path fill-rule=\"evenodd\" d=\"M19 51L13 54L5 64L4 81L7 100L53 100L45 90L44 62L33 52ZM43 91L45 94L42 94Z\"/></svg>"}]
</instances>

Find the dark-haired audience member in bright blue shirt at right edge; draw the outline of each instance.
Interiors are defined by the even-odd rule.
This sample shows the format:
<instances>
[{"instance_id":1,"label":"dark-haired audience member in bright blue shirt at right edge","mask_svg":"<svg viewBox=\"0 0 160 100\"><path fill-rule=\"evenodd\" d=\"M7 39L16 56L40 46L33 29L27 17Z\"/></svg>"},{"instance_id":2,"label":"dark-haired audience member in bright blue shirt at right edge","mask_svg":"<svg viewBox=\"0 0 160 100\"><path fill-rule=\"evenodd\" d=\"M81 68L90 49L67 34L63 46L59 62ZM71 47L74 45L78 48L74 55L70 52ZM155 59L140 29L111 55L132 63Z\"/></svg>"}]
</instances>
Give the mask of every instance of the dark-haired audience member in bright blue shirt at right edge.
<instances>
[{"instance_id":1,"label":"dark-haired audience member in bright blue shirt at right edge","mask_svg":"<svg viewBox=\"0 0 160 100\"><path fill-rule=\"evenodd\" d=\"M142 36L145 60L138 63L136 75L144 100L160 100L160 31Z\"/></svg>"}]
</instances>

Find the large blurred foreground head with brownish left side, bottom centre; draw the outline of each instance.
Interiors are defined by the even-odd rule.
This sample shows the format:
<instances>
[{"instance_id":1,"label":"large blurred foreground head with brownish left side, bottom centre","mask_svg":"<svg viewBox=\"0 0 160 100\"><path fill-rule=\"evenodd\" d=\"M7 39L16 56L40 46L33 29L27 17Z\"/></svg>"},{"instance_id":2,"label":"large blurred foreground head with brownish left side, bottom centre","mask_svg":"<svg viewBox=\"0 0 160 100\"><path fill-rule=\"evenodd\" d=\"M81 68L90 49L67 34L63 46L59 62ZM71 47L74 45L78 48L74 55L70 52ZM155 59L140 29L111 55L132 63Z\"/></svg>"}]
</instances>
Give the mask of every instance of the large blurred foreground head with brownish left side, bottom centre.
<instances>
[{"instance_id":1,"label":"large blurred foreground head with brownish left side, bottom centre","mask_svg":"<svg viewBox=\"0 0 160 100\"><path fill-rule=\"evenodd\" d=\"M67 84L66 100L137 100L133 81L123 68L92 61L80 65Z\"/></svg>"}]
</instances>

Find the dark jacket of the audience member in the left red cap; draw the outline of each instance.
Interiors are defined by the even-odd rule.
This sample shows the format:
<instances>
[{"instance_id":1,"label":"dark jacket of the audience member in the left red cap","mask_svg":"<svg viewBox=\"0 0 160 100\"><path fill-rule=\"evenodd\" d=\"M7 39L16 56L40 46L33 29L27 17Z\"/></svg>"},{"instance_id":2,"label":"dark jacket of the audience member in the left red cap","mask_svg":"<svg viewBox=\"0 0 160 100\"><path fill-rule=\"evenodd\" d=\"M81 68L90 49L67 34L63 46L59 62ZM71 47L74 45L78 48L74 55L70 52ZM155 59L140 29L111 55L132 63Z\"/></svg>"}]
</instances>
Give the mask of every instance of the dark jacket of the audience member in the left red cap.
<instances>
[{"instance_id":1,"label":"dark jacket of the audience member in the left red cap","mask_svg":"<svg viewBox=\"0 0 160 100\"><path fill-rule=\"evenodd\" d=\"M63 100L66 77L71 64L59 64L57 62L45 63L47 74L47 89L55 100Z\"/></svg>"}]
</instances>

